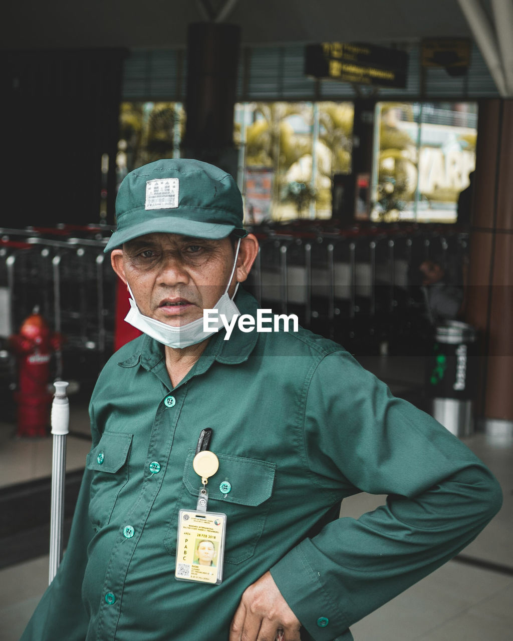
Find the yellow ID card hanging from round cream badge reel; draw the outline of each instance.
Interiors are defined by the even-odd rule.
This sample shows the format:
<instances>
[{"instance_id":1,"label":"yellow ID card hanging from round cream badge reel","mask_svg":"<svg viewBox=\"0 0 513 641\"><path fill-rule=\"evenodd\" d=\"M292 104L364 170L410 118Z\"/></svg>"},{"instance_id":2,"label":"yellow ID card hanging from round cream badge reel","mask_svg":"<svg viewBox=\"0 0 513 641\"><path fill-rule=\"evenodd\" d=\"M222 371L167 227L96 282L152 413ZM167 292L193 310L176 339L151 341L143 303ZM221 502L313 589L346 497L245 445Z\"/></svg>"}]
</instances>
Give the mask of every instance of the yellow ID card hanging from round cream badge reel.
<instances>
[{"instance_id":1,"label":"yellow ID card hanging from round cream badge reel","mask_svg":"<svg viewBox=\"0 0 513 641\"><path fill-rule=\"evenodd\" d=\"M206 511L206 484L219 469L219 460L214 452L201 451L194 456L192 467L201 477L203 487L196 510L180 510L178 514L174 577L179 581L219 584L223 580L226 514Z\"/></svg>"}]
</instances>

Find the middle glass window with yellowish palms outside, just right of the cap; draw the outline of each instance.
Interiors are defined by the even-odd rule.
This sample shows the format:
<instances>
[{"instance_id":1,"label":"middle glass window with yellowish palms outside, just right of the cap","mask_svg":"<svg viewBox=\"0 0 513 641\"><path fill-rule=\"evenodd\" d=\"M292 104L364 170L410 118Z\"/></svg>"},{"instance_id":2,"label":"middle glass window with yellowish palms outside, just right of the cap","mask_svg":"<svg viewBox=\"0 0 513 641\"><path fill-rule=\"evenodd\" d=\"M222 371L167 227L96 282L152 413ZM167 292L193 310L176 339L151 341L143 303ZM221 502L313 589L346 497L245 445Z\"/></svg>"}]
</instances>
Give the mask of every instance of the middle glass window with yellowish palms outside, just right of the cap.
<instances>
[{"instance_id":1,"label":"middle glass window with yellowish palms outside, just right of the cap","mask_svg":"<svg viewBox=\"0 0 513 641\"><path fill-rule=\"evenodd\" d=\"M352 103L239 103L246 221L330 218L332 176L351 171Z\"/></svg>"}]
</instances>

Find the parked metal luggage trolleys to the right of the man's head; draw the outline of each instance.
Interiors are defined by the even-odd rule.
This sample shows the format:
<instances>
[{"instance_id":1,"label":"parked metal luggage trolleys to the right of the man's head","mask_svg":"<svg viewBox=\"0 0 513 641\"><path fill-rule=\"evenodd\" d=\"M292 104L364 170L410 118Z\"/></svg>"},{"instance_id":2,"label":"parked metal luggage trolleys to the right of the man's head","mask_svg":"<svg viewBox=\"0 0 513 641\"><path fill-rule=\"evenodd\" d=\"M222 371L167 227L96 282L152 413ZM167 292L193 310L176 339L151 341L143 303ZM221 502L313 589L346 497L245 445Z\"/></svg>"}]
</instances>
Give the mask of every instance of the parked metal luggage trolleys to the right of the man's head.
<instances>
[{"instance_id":1,"label":"parked metal luggage trolleys to the right of the man's head","mask_svg":"<svg viewBox=\"0 0 513 641\"><path fill-rule=\"evenodd\" d=\"M249 287L265 308L296 313L313 331L355 349L427 338L419 265L441 263L452 284L468 235L455 226L255 228L260 251Z\"/></svg>"}]
</instances>

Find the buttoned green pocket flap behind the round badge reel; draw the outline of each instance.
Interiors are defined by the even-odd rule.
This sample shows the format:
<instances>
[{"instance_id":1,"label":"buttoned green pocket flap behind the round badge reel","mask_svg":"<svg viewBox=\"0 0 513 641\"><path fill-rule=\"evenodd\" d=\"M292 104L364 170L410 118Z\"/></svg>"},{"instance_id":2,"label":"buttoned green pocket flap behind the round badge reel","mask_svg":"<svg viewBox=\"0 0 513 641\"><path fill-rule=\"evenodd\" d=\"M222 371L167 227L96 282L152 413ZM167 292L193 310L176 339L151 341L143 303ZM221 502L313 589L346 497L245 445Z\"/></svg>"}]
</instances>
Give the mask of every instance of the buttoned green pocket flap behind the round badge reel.
<instances>
[{"instance_id":1,"label":"buttoned green pocket flap behind the round badge reel","mask_svg":"<svg viewBox=\"0 0 513 641\"><path fill-rule=\"evenodd\" d=\"M192 467L194 454L194 450L189 450L183 470L183 482L190 494L198 497L201 479ZM273 492L276 463L217 452L215 455L219 459L219 469L208 479L206 485L209 500L257 506L269 499ZM219 488L223 481L230 484L230 492L226 494Z\"/></svg>"}]
</instances>

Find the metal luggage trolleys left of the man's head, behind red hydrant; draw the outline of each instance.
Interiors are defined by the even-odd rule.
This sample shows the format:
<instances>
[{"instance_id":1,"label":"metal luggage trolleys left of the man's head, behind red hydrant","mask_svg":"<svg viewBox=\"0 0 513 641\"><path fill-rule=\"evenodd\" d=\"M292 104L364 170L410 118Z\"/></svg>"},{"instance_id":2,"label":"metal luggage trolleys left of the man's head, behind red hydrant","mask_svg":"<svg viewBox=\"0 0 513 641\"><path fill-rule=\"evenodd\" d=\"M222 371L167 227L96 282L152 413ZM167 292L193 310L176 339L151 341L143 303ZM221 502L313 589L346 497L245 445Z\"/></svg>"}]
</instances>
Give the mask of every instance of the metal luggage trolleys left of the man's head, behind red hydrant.
<instances>
[{"instance_id":1,"label":"metal luggage trolleys left of the man's head, behind red hydrant","mask_svg":"<svg viewBox=\"0 0 513 641\"><path fill-rule=\"evenodd\" d=\"M112 353L117 277L103 235L99 228L0 228L0 340L38 308L63 336L56 378L94 379Z\"/></svg>"}]
</instances>

